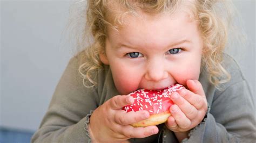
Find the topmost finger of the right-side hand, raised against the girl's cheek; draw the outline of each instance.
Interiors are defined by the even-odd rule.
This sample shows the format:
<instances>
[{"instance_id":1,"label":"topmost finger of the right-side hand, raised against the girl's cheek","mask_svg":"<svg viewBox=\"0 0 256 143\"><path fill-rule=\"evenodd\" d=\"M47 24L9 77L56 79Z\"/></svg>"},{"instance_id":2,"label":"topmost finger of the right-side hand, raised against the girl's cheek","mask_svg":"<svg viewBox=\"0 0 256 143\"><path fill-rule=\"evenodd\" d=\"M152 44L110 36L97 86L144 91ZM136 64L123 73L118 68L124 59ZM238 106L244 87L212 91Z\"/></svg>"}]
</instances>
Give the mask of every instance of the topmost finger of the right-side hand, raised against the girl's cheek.
<instances>
[{"instance_id":1,"label":"topmost finger of the right-side hand, raised against the girl's cheek","mask_svg":"<svg viewBox=\"0 0 256 143\"><path fill-rule=\"evenodd\" d=\"M205 96L203 86L198 80L187 80L187 88L194 94Z\"/></svg>"}]
</instances>

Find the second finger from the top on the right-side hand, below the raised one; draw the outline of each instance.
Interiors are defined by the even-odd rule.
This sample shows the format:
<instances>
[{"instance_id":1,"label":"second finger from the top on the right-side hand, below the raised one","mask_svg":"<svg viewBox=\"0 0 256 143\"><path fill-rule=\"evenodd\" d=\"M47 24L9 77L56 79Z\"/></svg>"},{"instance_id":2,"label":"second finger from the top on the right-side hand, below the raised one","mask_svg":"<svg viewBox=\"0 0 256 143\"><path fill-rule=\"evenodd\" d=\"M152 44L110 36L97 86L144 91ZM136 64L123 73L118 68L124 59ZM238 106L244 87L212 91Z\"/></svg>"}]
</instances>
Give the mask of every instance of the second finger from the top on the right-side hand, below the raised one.
<instances>
[{"instance_id":1,"label":"second finger from the top on the right-side hand, below the raised one","mask_svg":"<svg viewBox=\"0 0 256 143\"><path fill-rule=\"evenodd\" d=\"M207 106L206 98L194 94L190 90L182 89L178 91L179 95L186 99L187 102L192 104L197 110L201 109L203 106Z\"/></svg>"}]
</instances>

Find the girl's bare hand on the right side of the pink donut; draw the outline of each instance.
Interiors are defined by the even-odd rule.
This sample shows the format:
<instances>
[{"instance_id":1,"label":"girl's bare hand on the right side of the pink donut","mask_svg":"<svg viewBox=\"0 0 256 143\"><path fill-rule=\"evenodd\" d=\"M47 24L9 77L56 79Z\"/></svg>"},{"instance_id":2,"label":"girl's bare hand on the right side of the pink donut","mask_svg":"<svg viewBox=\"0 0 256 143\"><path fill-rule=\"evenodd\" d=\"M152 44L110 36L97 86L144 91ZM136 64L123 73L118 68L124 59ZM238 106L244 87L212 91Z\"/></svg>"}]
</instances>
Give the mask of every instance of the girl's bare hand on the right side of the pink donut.
<instances>
[{"instance_id":1,"label":"girl's bare hand on the right side of the pink donut","mask_svg":"<svg viewBox=\"0 0 256 143\"><path fill-rule=\"evenodd\" d=\"M188 80L187 89L173 92L170 107L171 115L166 126L174 133L184 132L197 126L203 120L207 111L207 101L203 87L199 81ZM184 134L183 134L184 136Z\"/></svg>"}]
</instances>

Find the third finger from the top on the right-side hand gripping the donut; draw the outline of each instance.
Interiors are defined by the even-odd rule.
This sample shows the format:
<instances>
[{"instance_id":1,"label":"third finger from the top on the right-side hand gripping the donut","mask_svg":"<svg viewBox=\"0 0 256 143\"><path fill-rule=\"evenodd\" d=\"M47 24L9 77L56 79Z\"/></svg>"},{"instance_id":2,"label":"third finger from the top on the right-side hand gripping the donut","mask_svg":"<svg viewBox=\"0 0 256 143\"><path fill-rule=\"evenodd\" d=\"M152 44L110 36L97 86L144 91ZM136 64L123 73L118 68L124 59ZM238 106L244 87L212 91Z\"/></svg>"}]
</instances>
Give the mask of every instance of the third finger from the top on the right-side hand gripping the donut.
<instances>
[{"instance_id":1,"label":"third finger from the top on the right-side hand gripping the donut","mask_svg":"<svg viewBox=\"0 0 256 143\"><path fill-rule=\"evenodd\" d=\"M194 119L197 117L198 110L191 105L186 99L181 97L177 92L171 94L173 103L177 104L182 112L185 113L188 119Z\"/></svg>"}]
</instances>

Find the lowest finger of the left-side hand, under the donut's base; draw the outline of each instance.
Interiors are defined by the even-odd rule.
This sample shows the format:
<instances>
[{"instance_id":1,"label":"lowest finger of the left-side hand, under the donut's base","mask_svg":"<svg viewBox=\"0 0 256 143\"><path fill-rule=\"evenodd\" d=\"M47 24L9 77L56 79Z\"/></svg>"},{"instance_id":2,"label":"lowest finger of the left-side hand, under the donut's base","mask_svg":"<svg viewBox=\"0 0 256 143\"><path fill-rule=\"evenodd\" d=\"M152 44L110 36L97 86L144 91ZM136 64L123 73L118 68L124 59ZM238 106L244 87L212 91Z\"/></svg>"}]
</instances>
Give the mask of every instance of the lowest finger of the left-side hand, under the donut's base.
<instances>
[{"instance_id":1,"label":"lowest finger of the left-side hand, under the donut's base","mask_svg":"<svg viewBox=\"0 0 256 143\"><path fill-rule=\"evenodd\" d=\"M157 126L132 127L130 125L123 127L123 134L128 138L146 138L158 133Z\"/></svg>"}]
</instances>

